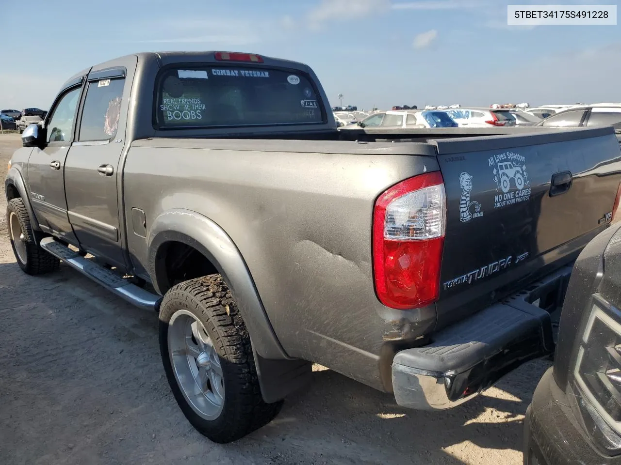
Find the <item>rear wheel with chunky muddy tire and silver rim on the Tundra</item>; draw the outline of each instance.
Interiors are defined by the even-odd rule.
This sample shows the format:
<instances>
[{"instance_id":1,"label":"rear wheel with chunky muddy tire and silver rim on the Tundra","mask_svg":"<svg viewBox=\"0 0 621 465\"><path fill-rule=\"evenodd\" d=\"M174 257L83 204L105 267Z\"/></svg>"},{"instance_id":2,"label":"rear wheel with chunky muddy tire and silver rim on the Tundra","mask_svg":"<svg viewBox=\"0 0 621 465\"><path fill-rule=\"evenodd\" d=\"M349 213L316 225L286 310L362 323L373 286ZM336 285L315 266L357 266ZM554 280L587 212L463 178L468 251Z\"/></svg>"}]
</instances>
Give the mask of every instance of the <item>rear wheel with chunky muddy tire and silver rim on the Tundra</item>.
<instances>
[{"instance_id":1,"label":"rear wheel with chunky muddy tire and silver rim on the Tundra","mask_svg":"<svg viewBox=\"0 0 621 465\"><path fill-rule=\"evenodd\" d=\"M263 427L283 405L261 397L250 336L220 275L184 281L166 293L160 353L181 411L216 443Z\"/></svg>"}]
</instances>

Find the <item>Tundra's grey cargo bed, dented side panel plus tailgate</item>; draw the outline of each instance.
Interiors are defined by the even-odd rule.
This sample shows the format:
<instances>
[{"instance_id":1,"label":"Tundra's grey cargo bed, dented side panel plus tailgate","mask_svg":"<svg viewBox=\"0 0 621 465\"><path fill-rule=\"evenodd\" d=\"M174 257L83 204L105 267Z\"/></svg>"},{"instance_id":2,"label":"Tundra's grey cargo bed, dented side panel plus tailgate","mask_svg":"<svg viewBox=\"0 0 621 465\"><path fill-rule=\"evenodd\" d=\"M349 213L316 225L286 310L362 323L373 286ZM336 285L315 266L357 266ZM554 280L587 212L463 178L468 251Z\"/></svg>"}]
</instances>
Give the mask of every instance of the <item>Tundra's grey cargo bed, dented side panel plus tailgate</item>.
<instances>
[{"instance_id":1,"label":"Tundra's grey cargo bed, dented side panel plus tailgate","mask_svg":"<svg viewBox=\"0 0 621 465\"><path fill-rule=\"evenodd\" d=\"M531 130L443 139L427 130L427 143L141 139L124 169L126 221L132 224L136 205L150 212L147 228L175 208L211 218L244 257L289 355L382 388L376 363L391 339L414 340L524 288L571 262L607 226L598 219L612 211L621 177L612 129ZM524 160L530 176L517 189L513 173L507 195L530 191L495 208L505 192L490 159L507 153ZM374 294L374 201L397 182L438 170L447 199L440 299L389 309ZM551 176L564 170L573 185L550 197ZM461 216L462 173L471 175L468 201L481 205L470 218ZM147 262L147 243L135 235L128 241L136 263Z\"/></svg>"}]
</instances>

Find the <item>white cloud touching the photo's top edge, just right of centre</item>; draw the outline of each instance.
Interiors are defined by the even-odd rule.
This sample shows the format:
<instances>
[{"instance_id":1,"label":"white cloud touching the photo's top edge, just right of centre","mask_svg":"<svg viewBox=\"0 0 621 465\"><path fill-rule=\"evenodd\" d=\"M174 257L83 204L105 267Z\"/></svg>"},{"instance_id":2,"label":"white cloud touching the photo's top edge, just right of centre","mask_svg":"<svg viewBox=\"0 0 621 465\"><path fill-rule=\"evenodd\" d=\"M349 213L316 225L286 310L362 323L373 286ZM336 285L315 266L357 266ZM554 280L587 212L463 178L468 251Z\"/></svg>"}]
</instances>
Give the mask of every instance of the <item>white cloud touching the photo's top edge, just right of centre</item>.
<instances>
[{"instance_id":1,"label":"white cloud touching the photo's top edge, just right of centre","mask_svg":"<svg viewBox=\"0 0 621 465\"><path fill-rule=\"evenodd\" d=\"M312 29L317 29L325 22L358 19L389 8L390 0L322 0L306 19Z\"/></svg>"}]
</instances>

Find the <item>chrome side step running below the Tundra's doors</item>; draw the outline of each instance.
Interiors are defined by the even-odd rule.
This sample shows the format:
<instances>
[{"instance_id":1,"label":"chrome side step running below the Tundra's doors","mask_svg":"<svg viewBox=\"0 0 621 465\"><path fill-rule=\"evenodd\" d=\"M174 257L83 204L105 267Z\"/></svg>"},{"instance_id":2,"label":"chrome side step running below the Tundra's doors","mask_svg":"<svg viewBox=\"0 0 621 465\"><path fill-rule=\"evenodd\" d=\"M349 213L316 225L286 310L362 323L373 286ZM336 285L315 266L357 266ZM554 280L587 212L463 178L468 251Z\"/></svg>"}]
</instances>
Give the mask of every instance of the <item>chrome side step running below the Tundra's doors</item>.
<instances>
[{"instance_id":1,"label":"chrome side step running below the Tundra's doors","mask_svg":"<svg viewBox=\"0 0 621 465\"><path fill-rule=\"evenodd\" d=\"M94 260L85 259L79 255L78 252L74 252L69 247L65 246L65 244L56 241L53 237L45 237L45 239L41 241L41 248L58 259L63 260L63 262L75 268L83 275L101 284L107 290L117 294L120 298L125 299L130 304L149 310L159 309L161 296L145 291L130 283L111 270L94 262Z\"/></svg>"}]
</instances>

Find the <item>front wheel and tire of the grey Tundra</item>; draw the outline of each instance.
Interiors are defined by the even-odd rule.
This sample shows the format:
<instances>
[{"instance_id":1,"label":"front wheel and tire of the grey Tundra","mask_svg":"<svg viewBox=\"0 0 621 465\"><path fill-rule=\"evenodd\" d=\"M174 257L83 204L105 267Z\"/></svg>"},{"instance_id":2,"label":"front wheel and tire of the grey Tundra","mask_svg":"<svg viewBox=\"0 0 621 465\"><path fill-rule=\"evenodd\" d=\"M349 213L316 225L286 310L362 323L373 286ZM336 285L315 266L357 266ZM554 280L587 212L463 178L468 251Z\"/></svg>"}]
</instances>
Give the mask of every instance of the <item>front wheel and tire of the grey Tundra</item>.
<instances>
[{"instance_id":1,"label":"front wheel and tire of the grey Tundra","mask_svg":"<svg viewBox=\"0 0 621 465\"><path fill-rule=\"evenodd\" d=\"M9 200L6 206L6 223L13 253L24 273L42 275L58 270L60 260L45 252L37 244L30 226L30 216L21 198Z\"/></svg>"}]
</instances>

